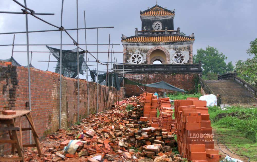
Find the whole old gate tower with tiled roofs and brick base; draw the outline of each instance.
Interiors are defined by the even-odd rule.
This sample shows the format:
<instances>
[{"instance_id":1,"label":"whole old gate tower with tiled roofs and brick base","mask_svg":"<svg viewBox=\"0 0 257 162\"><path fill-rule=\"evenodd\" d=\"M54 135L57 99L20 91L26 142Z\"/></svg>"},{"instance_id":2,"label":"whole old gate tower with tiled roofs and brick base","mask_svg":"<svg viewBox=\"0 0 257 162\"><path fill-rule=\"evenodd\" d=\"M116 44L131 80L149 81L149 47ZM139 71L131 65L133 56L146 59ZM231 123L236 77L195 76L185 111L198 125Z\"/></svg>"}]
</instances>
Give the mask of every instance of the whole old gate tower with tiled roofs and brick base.
<instances>
[{"instance_id":1,"label":"whole old gate tower with tiled roofs and brick base","mask_svg":"<svg viewBox=\"0 0 257 162\"><path fill-rule=\"evenodd\" d=\"M180 34L180 28L174 30L174 10L159 5L140 10L141 30L135 28L135 36L122 34L124 48L124 69L134 72L126 73L126 77L142 84L165 81L187 91L195 89L195 80L201 74L201 64L192 64L192 49L195 41L194 33L190 36ZM155 64L157 61L161 64ZM122 65L118 65L122 68ZM142 90L136 86L124 85L126 96L138 95ZM164 92L164 89L142 87L148 92ZM166 91L167 93L172 91ZM161 94L162 95L162 94Z\"/></svg>"}]
</instances>

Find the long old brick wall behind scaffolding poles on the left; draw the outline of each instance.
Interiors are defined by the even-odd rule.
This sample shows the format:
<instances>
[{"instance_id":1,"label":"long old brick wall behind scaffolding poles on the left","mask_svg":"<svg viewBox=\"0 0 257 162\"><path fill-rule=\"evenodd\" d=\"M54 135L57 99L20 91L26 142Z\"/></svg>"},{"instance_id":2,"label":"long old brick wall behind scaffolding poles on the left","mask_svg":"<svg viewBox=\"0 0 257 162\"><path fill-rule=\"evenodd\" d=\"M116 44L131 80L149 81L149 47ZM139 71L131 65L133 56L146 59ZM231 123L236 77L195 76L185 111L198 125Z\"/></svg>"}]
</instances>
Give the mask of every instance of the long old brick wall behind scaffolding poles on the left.
<instances>
[{"instance_id":1,"label":"long old brick wall behind scaffolding poles on the left","mask_svg":"<svg viewBox=\"0 0 257 162\"><path fill-rule=\"evenodd\" d=\"M0 111L2 110L29 110L26 102L29 101L27 68L8 65L0 61ZM89 113L96 112L97 84L89 82L89 101L87 101L87 82L79 83L79 117L86 117L87 103ZM33 121L40 137L56 131L59 128L59 90L60 75L52 72L31 68L31 110ZM98 87L99 109L104 107L105 93L108 96L108 87ZM62 77L61 127L66 128L77 122L77 79ZM123 94L122 89L118 94ZM121 96L122 97L122 96ZM107 102L107 101L106 101ZM1 124L1 127L4 127ZM22 127L29 126L25 117L22 117ZM23 143L29 143L29 131L23 131ZM9 139L8 132L0 132L1 139ZM33 138L32 138L33 139ZM10 153L10 144L0 145L0 154Z\"/></svg>"}]
</instances>

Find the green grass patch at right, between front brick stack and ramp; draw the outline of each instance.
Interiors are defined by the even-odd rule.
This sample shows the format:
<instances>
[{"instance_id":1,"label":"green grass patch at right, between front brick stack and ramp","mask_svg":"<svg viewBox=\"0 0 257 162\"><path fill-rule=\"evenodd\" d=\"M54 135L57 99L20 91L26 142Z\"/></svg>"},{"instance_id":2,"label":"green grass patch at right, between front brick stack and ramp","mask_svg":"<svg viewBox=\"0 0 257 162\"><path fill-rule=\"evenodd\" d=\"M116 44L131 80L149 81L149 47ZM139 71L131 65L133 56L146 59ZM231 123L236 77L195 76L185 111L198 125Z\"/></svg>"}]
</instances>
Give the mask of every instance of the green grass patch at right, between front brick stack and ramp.
<instances>
[{"instance_id":1,"label":"green grass patch at right, between front brick stack and ramp","mask_svg":"<svg viewBox=\"0 0 257 162\"><path fill-rule=\"evenodd\" d=\"M211 126L215 130L214 138L219 139L219 144L224 142L232 152L248 156L251 161L257 161L257 108L242 106L226 107L227 110L221 110L217 106L208 108Z\"/></svg>"}]
</instances>

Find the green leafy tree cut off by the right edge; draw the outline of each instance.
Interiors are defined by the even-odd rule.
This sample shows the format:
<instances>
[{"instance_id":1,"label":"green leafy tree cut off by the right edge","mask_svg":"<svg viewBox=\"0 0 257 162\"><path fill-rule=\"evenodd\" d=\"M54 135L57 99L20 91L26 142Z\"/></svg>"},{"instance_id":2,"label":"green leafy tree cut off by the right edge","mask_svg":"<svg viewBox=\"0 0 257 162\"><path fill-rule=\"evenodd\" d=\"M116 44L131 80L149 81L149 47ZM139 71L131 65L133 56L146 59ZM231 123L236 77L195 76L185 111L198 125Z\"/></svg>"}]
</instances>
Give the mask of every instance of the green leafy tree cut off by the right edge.
<instances>
[{"instance_id":1,"label":"green leafy tree cut off by the right edge","mask_svg":"<svg viewBox=\"0 0 257 162\"><path fill-rule=\"evenodd\" d=\"M238 77L257 88L257 38L250 42L250 48L247 50L247 53L254 55L254 57L246 61L238 60L235 70Z\"/></svg>"}]
</instances>

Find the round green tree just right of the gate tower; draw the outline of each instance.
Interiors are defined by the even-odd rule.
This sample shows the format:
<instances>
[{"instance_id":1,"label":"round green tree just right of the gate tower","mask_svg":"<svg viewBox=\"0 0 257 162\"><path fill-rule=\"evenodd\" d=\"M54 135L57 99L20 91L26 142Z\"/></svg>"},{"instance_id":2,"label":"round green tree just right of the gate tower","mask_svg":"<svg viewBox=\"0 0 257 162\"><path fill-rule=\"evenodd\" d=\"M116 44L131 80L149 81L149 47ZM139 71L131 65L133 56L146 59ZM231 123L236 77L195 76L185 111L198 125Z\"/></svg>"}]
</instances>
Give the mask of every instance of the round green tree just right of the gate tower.
<instances>
[{"instance_id":1,"label":"round green tree just right of the gate tower","mask_svg":"<svg viewBox=\"0 0 257 162\"><path fill-rule=\"evenodd\" d=\"M211 46L206 47L206 50L202 48L197 50L197 54L193 57L194 63L198 63L198 61L202 63L203 79L216 80L217 75L231 72L234 69L232 62L226 64L227 57Z\"/></svg>"}]
</instances>

